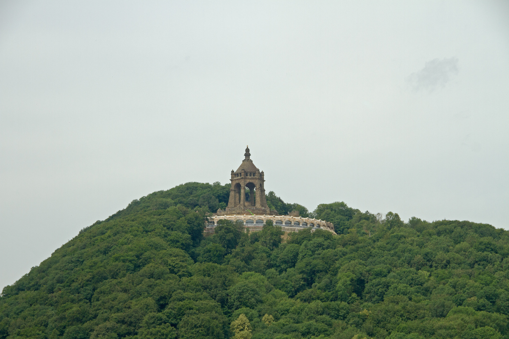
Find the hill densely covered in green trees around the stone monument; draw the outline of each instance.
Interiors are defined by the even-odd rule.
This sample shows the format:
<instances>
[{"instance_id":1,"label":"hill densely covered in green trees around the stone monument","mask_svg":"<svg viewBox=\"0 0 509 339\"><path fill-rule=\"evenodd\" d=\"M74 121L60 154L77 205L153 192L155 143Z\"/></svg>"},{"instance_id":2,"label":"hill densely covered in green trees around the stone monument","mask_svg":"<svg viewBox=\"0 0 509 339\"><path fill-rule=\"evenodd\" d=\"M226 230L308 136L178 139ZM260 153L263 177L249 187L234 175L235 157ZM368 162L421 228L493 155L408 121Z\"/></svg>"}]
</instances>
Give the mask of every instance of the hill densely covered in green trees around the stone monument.
<instances>
[{"instance_id":1,"label":"hill densely covered in green trees around the stone monument","mask_svg":"<svg viewBox=\"0 0 509 339\"><path fill-rule=\"evenodd\" d=\"M223 222L204 238L229 190L186 183L83 229L4 288L0 339L509 339L508 231L271 192L338 235Z\"/></svg>"}]
</instances>

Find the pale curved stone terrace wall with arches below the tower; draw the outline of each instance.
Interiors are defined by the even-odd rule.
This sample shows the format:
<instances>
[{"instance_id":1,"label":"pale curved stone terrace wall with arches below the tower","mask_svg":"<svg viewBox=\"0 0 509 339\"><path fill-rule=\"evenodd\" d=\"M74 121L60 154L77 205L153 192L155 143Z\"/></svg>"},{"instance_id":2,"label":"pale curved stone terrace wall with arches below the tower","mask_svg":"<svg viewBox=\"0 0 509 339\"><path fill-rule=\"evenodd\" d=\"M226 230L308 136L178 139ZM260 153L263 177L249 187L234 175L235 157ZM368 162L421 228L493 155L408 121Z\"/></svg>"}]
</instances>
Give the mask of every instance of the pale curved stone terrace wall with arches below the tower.
<instances>
[{"instance_id":1,"label":"pale curved stone terrace wall with arches below the tower","mask_svg":"<svg viewBox=\"0 0 509 339\"><path fill-rule=\"evenodd\" d=\"M334 232L334 225L327 221L303 218L303 217L292 217L290 215L214 215L209 217L208 225L205 227L205 233L212 233L217 222L219 220L231 220L236 222L241 220L245 228L249 228L251 231L262 229L263 224L267 220L272 220L274 225L281 226L283 231L286 232L298 232L307 227L313 227L312 230L324 229L329 232Z\"/></svg>"}]
</instances>

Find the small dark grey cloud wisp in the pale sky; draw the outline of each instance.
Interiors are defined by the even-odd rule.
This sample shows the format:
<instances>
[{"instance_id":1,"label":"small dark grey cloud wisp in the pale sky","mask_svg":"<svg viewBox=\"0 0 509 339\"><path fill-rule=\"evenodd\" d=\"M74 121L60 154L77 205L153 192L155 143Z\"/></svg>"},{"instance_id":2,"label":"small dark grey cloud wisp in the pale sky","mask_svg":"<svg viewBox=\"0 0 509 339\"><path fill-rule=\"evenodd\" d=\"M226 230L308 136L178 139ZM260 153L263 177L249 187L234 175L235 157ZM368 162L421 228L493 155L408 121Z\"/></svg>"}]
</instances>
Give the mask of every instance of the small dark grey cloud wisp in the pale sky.
<instances>
[{"instance_id":1,"label":"small dark grey cloud wisp in the pale sky","mask_svg":"<svg viewBox=\"0 0 509 339\"><path fill-rule=\"evenodd\" d=\"M417 73L412 73L407 82L417 91L420 89L434 90L438 86L444 86L451 76L458 74L458 58L433 59L428 61L424 68Z\"/></svg>"}]
</instances>

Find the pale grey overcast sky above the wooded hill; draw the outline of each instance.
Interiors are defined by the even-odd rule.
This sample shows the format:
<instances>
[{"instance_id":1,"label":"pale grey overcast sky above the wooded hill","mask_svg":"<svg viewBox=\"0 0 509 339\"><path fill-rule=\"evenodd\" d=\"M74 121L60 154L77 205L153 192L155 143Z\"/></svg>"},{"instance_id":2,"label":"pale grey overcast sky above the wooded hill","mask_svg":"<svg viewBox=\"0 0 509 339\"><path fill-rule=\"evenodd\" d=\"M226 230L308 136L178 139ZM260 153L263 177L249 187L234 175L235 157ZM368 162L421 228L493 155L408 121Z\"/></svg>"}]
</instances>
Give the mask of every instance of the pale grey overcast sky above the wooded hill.
<instances>
[{"instance_id":1,"label":"pale grey overcast sky above the wooded hill","mask_svg":"<svg viewBox=\"0 0 509 339\"><path fill-rule=\"evenodd\" d=\"M0 2L0 288L131 200L229 182L509 229L509 2Z\"/></svg>"}]
</instances>

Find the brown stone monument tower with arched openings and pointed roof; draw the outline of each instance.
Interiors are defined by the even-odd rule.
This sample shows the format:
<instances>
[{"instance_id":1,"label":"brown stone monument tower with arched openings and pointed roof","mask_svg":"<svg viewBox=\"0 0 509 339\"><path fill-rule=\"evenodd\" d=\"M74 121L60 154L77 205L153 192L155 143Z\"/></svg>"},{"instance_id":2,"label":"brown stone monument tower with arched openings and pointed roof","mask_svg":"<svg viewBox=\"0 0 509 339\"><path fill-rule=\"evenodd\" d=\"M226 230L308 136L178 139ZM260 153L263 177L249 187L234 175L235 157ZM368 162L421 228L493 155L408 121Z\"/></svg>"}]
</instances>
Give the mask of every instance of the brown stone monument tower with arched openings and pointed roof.
<instances>
[{"instance_id":1,"label":"brown stone monument tower with arched openings and pointed roof","mask_svg":"<svg viewBox=\"0 0 509 339\"><path fill-rule=\"evenodd\" d=\"M270 214L265 198L263 171L260 172L254 166L250 157L251 153L247 146L242 164L231 173L232 187L225 214Z\"/></svg>"}]
</instances>

